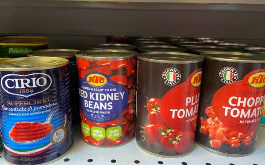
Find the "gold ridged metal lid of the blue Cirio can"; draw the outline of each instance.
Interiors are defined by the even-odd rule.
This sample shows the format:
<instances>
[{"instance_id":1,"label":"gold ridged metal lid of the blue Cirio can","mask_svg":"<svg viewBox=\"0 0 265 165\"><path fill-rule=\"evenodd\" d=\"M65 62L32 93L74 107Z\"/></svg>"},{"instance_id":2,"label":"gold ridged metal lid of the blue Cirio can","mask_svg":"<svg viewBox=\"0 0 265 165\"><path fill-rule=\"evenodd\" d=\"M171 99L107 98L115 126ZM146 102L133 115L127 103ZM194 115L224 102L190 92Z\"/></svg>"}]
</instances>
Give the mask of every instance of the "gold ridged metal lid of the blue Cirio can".
<instances>
[{"instance_id":1,"label":"gold ridged metal lid of the blue Cirio can","mask_svg":"<svg viewBox=\"0 0 265 165\"><path fill-rule=\"evenodd\" d=\"M20 57L0 61L0 71L32 71L52 69L68 64L68 60L59 57Z\"/></svg>"}]
</instances>

